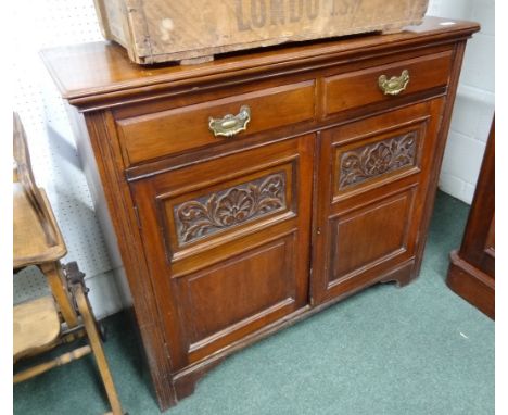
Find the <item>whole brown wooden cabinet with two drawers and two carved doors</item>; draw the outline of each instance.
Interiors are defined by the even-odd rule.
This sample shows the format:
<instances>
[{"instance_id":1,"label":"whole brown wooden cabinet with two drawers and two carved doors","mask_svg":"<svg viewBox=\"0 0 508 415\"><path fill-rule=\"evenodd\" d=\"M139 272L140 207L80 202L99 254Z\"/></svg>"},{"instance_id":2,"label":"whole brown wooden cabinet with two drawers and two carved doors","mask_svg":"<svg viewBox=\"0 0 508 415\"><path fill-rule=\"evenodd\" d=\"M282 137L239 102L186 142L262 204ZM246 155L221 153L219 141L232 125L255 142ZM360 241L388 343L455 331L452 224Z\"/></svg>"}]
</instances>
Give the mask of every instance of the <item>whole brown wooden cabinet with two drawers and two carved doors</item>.
<instances>
[{"instance_id":1,"label":"whole brown wooden cabinet with two drawers and two carved doors","mask_svg":"<svg viewBox=\"0 0 508 415\"><path fill-rule=\"evenodd\" d=\"M161 408L231 352L418 275L478 29L427 18L195 66L102 42L42 53L104 191Z\"/></svg>"}]
</instances>

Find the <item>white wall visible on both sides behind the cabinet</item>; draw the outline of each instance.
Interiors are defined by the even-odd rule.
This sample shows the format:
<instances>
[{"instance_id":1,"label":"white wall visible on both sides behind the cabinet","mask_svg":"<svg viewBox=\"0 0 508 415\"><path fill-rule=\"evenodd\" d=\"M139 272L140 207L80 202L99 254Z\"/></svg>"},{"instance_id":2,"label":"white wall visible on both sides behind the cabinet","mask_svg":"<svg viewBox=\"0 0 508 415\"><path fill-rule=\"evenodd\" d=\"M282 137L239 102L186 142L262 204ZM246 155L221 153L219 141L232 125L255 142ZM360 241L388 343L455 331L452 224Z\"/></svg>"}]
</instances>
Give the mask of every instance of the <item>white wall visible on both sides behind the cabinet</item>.
<instances>
[{"instance_id":1,"label":"white wall visible on both sides behind the cabinet","mask_svg":"<svg viewBox=\"0 0 508 415\"><path fill-rule=\"evenodd\" d=\"M42 48L102 40L93 0L17 0L12 8L12 27L31 28L13 34L13 106L28 134L38 184L48 191L67 243L64 261L76 260L87 274L91 303L102 317L123 305L115 278L119 263L107 253L67 115L38 56ZM477 20L483 26L468 46L440 181L443 190L469 202L494 109L494 0L431 0L429 14ZM45 279L34 269L14 279L15 302L43 292Z\"/></svg>"}]
</instances>

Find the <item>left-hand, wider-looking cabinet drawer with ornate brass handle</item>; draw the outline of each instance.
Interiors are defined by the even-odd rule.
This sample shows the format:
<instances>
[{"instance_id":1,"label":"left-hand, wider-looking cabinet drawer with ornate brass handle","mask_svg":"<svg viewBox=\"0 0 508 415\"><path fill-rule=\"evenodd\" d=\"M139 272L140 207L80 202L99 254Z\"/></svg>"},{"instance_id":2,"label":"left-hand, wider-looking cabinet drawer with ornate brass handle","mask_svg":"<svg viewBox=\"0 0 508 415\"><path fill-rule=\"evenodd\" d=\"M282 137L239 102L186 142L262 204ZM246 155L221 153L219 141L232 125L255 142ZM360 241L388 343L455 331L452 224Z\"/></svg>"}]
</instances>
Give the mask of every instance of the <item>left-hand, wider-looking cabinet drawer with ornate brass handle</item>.
<instances>
[{"instance_id":1,"label":"left-hand, wider-looking cabinet drawer with ornate brass handle","mask_svg":"<svg viewBox=\"0 0 508 415\"><path fill-rule=\"evenodd\" d=\"M282 85L118 120L126 163L132 165L230 140L231 137L215 136L209 120L223 120L223 125L227 127L227 120L231 120L234 126L234 120L238 118L238 124L242 126L245 123L245 111L242 113L242 110L245 108L250 121L244 125L244 130L234 134L234 139L312 121L315 117L315 81L312 79Z\"/></svg>"}]
</instances>

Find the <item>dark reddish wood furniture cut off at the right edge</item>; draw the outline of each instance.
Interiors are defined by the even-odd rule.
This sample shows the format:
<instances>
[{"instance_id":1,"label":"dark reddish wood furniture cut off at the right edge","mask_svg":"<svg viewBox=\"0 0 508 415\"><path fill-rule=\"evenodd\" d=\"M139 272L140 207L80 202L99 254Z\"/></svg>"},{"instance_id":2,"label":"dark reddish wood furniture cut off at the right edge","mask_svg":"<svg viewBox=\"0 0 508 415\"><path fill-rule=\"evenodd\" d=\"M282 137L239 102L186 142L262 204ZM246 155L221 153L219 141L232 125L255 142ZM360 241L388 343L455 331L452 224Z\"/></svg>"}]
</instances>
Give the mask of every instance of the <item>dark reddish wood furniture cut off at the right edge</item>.
<instances>
[{"instance_id":1,"label":"dark reddish wood furniture cut off at the right edge","mask_svg":"<svg viewBox=\"0 0 508 415\"><path fill-rule=\"evenodd\" d=\"M495 318L495 123L483 156L471 212L459 250L450 253L446 284Z\"/></svg>"}]
</instances>

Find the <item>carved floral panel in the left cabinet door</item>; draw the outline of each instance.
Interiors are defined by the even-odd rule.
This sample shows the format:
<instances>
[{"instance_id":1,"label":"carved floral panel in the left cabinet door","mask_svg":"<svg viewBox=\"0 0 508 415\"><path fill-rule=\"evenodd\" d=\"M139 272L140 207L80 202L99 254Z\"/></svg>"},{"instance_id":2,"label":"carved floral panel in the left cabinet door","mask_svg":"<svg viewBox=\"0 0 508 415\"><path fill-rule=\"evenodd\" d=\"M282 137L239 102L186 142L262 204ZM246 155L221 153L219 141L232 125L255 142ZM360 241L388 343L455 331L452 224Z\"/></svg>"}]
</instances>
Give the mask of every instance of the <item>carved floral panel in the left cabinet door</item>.
<instances>
[{"instance_id":1,"label":"carved floral panel in the left cabinet door","mask_svg":"<svg viewBox=\"0 0 508 415\"><path fill-rule=\"evenodd\" d=\"M285 172L190 200L174 208L180 246L284 210Z\"/></svg>"}]
</instances>

